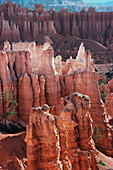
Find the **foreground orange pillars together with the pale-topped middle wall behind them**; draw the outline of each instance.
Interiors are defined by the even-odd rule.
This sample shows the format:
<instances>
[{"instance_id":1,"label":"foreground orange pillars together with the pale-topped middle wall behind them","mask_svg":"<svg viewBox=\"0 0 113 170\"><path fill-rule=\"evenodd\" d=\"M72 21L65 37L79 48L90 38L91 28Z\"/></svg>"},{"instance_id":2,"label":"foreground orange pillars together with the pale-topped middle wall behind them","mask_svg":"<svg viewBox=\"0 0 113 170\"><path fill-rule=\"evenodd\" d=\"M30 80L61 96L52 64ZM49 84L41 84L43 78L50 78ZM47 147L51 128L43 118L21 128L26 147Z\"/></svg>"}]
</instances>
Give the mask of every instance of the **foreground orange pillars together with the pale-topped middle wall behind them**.
<instances>
[{"instance_id":1,"label":"foreground orange pillars together with the pale-topped middle wall behind them","mask_svg":"<svg viewBox=\"0 0 113 170\"><path fill-rule=\"evenodd\" d=\"M60 56L54 60L50 44L36 46L33 42L13 43L12 50L5 43L0 58L1 91L8 91L11 99L19 103L19 118L28 123L30 116L29 168L96 169L92 137L101 152L113 156L112 119L109 121L101 101L98 75L83 43L76 60L70 58L66 62ZM112 81L109 84L112 90ZM91 100L90 110L86 95ZM35 108L30 115L32 107Z\"/></svg>"}]
</instances>

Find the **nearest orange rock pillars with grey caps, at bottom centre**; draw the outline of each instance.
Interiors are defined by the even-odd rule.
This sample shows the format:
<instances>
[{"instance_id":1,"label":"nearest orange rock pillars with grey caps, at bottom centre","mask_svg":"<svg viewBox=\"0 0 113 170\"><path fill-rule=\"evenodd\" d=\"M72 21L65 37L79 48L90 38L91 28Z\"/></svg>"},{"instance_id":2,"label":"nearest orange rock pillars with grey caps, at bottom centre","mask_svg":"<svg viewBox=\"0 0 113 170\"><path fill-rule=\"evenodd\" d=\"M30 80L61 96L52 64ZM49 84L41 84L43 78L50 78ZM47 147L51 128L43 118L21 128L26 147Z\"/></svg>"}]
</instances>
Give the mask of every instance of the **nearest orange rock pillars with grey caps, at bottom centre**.
<instances>
[{"instance_id":1,"label":"nearest orange rock pillars with grey caps, at bottom centre","mask_svg":"<svg viewBox=\"0 0 113 170\"><path fill-rule=\"evenodd\" d=\"M28 169L97 169L88 96L74 93L60 115L33 108L27 128Z\"/></svg>"}]
</instances>

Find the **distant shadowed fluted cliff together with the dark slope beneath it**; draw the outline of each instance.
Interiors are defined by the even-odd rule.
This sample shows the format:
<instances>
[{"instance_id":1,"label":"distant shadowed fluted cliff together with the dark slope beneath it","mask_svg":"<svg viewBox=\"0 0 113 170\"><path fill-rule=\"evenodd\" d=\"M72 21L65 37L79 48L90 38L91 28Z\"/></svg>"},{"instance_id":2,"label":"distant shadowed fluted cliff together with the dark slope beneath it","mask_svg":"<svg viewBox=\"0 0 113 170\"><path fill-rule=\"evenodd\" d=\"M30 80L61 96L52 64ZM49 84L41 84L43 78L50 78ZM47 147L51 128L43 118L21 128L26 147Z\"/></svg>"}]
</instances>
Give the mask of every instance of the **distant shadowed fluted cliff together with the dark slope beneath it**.
<instances>
[{"instance_id":1,"label":"distant shadowed fluted cliff together with the dark slope beneath it","mask_svg":"<svg viewBox=\"0 0 113 170\"><path fill-rule=\"evenodd\" d=\"M68 9L45 11L39 4L30 10L17 7L11 1L0 5L0 49L5 40L10 43L35 41L42 45L48 35L55 55L62 55L64 60L69 56L76 58L83 40L87 50L93 53L95 63L112 63L112 29L112 12L96 12L93 8L73 13Z\"/></svg>"}]
</instances>

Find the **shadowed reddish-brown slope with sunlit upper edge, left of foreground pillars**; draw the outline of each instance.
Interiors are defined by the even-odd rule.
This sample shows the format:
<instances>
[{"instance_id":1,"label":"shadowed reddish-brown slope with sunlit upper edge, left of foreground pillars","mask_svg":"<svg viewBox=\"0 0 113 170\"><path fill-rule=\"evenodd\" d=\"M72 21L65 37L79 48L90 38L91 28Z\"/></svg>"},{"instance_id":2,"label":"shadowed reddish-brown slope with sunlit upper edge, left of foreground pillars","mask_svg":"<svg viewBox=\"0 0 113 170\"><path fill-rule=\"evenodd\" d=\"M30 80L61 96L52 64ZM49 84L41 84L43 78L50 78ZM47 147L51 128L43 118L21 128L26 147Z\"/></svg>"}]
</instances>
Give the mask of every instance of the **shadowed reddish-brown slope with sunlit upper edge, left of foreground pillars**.
<instances>
[{"instance_id":1,"label":"shadowed reddish-brown slope with sunlit upper edge, left of foreground pillars","mask_svg":"<svg viewBox=\"0 0 113 170\"><path fill-rule=\"evenodd\" d=\"M0 133L0 166L3 169L6 169L8 161L14 157L17 160L26 158L25 135L25 132L11 135Z\"/></svg>"}]
</instances>

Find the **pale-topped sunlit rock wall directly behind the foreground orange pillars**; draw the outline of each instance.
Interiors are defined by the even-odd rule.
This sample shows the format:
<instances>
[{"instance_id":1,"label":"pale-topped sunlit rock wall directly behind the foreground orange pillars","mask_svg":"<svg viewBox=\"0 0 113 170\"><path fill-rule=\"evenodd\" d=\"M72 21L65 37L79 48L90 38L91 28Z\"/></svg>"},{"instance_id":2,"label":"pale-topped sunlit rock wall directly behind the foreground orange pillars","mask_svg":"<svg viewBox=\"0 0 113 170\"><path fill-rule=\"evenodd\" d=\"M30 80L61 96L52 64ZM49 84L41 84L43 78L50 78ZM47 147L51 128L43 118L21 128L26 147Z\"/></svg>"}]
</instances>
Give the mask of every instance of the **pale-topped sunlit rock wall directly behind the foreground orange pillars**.
<instances>
[{"instance_id":1,"label":"pale-topped sunlit rock wall directly behind the foreground orange pillars","mask_svg":"<svg viewBox=\"0 0 113 170\"><path fill-rule=\"evenodd\" d=\"M20 50L21 45L24 51ZM10 98L19 103L18 117L28 123L30 109L44 104L49 105L52 115L60 116L65 96L74 92L88 95L93 129L99 129L99 138L95 139L96 147L106 155L113 156L112 129L100 98L98 75L91 54L85 51L83 43L76 60L70 57L66 62L62 62L61 57L54 60L54 51L49 43L43 46L36 46L34 42L15 43L12 48L10 50L6 42L4 51L0 51L1 91L8 91ZM0 107L2 110L2 105Z\"/></svg>"}]
</instances>

